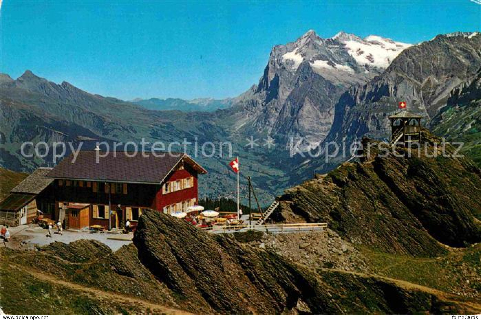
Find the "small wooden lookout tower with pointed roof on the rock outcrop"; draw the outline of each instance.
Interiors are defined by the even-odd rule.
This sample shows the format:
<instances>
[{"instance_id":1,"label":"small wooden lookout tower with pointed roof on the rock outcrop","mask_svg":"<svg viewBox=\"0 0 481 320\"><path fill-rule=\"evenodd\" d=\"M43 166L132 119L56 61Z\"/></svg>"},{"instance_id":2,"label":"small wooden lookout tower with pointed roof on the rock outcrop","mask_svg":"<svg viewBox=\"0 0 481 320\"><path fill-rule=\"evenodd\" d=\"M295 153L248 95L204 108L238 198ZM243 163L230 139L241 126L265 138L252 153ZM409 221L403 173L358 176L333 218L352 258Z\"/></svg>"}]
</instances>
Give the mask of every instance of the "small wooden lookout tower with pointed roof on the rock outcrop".
<instances>
[{"instance_id":1,"label":"small wooden lookout tower with pointed roof on the rock outcrop","mask_svg":"<svg viewBox=\"0 0 481 320\"><path fill-rule=\"evenodd\" d=\"M421 119L423 116L401 111L388 117L391 120L391 144L399 141L421 142Z\"/></svg>"}]
</instances>

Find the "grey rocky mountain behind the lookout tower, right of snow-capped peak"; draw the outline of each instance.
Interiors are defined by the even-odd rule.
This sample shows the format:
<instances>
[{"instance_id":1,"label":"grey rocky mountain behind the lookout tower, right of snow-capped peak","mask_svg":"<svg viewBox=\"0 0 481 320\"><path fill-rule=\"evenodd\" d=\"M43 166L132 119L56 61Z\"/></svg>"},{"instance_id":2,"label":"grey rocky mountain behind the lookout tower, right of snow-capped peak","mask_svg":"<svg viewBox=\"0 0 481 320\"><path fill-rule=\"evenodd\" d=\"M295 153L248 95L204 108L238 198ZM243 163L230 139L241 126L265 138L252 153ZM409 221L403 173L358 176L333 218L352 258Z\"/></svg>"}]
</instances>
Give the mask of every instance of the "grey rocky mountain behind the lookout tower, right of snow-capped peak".
<instances>
[{"instance_id":1,"label":"grey rocky mountain behind the lookout tower, right of snow-capped peak","mask_svg":"<svg viewBox=\"0 0 481 320\"><path fill-rule=\"evenodd\" d=\"M481 67L481 34L440 35L405 49L390 66L367 84L353 86L335 106L326 141L341 142L369 135L386 138L387 115L406 101L407 110L427 122L446 105L451 91Z\"/></svg>"}]
</instances>

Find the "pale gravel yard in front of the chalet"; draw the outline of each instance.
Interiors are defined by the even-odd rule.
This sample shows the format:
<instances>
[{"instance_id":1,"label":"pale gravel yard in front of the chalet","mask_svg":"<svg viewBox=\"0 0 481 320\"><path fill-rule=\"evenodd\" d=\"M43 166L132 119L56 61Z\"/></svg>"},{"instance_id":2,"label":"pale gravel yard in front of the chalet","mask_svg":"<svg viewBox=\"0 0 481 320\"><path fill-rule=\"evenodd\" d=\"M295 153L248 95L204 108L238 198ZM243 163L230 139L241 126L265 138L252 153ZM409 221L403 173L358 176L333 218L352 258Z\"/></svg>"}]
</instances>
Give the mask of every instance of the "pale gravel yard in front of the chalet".
<instances>
[{"instance_id":1,"label":"pale gravel yard in front of the chalet","mask_svg":"<svg viewBox=\"0 0 481 320\"><path fill-rule=\"evenodd\" d=\"M112 233L89 233L80 231L64 230L63 234L56 234L56 229L52 237L47 237L47 229L37 225L22 225L9 228L11 239L5 245L13 249L31 250L35 245L46 246L55 241L70 243L79 239L97 240L109 246L113 251L132 242L133 233L112 234ZM110 238L110 239L109 239Z\"/></svg>"}]
</instances>

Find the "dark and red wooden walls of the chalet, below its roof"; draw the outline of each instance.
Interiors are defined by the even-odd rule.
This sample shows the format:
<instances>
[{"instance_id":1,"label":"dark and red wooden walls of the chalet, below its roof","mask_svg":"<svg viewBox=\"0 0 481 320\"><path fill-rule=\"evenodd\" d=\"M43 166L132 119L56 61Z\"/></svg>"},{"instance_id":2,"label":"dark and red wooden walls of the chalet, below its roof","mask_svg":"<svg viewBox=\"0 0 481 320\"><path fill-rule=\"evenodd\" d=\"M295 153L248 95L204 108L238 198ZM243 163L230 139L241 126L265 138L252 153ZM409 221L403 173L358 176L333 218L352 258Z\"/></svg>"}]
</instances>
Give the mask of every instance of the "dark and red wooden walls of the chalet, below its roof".
<instances>
[{"instance_id":1,"label":"dark and red wooden walls of the chalet, below its roof","mask_svg":"<svg viewBox=\"0 0 481 320\"><path fill-rule=\"evenodd\" d=\"M55 221L63 207L66 209L65 228L77 229L92 225L109 228L107 207L110 201L110 210L114 212L110 226L122 228L127 219L135 226L136 213L140 215L142 209L151 208L168 213L177 211L182 205L185 207L198 203L198 174L205 171L195 168L191 161L179 162L162 183L55 179L38 195L37 203L44 215ZM171 186L169 192L166 192L166 184ZM75 204L86 206L79 209ZM102 213L102 210L105 211Z\"/></svg>"}]
</instances>

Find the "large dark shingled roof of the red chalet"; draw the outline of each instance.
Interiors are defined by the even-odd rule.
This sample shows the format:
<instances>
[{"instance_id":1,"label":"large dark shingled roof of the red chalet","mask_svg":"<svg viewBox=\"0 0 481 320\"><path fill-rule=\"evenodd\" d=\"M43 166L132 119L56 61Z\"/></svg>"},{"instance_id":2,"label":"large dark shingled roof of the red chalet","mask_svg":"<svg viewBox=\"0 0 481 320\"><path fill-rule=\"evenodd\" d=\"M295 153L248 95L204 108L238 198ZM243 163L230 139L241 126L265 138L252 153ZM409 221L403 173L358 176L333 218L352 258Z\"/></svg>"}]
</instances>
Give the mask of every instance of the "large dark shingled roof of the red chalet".
<instances>
[{"instance_id":1,"label":"large dark shingled roof of the red chalet","mask_svg":"<svg viewBox=\"0 0 481 320\"><path fill-rule=\"evenodd\" d=\"M100 155L102 156L103 153ZM75 161L73 161L73 154L65 157L49 172L48 177L66 180L160 184L181 160L190 163L197 172L207 173L185 153L156 152L157 156L155 156L151 152L145 152L145 155L138 152L135 157L132 157L125 152L109 152L106 157L99 157L97 162L97 151L80 151Z\"/></svg>"}]
</instances>

